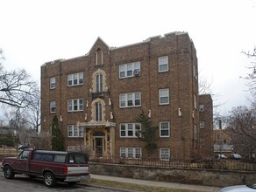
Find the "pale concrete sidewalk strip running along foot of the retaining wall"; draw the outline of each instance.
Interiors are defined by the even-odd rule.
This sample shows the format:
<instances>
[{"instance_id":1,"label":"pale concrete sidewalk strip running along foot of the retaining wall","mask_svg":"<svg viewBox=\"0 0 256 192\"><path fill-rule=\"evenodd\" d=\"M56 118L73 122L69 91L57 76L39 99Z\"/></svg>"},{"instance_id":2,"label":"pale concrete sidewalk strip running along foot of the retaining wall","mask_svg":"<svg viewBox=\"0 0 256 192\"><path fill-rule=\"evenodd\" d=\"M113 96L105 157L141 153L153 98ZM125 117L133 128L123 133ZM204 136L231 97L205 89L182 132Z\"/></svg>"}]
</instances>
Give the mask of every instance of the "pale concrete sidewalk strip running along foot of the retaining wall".
<instances>
[{"instance_id":1,"label":"pale concrete sidewalk strip running along foot of the retaining wall","mask_svg":"<svg viewBox=\"0 0 256 192\"><path fill-rule=\"evenodd\" d=\"M202 185L188 185L188 184L181 184L181 183L174 183L174 182L153 182L153 181L130 179L130 178L124 178L124 177L106 176L106 175L91 174L90 177L93 179L107 180L112 182L128 182L133 184L163 187L163 188L170 188L170 189L188 189L188 190L197 190L197 191L205 191L205 192L207 191L218 192L220 189L217 187L202 186Z\"/></svg>"}]
</instances>

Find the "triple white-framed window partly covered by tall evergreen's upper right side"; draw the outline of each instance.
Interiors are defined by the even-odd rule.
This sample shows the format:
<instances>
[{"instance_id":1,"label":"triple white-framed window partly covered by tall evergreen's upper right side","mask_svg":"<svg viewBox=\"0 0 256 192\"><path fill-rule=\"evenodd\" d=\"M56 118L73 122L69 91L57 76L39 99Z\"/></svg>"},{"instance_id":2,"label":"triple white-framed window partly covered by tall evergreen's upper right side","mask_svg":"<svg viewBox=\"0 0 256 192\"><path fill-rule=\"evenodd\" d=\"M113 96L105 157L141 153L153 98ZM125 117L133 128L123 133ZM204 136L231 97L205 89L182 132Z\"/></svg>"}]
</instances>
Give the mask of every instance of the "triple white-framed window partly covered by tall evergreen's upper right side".
<instances>
[{"instance_id":1,"label":"triple white-framed window partly covered by tall evergreen's upper right side","mask_svg":"<svg viewBox=\"0 0 256 192\"><path fill-rule=\"evenodd\" d=\"M120 124L120 137L135 138L136 133L141 131L140 123L121 123Z\"/></svg>"}]
</instances>

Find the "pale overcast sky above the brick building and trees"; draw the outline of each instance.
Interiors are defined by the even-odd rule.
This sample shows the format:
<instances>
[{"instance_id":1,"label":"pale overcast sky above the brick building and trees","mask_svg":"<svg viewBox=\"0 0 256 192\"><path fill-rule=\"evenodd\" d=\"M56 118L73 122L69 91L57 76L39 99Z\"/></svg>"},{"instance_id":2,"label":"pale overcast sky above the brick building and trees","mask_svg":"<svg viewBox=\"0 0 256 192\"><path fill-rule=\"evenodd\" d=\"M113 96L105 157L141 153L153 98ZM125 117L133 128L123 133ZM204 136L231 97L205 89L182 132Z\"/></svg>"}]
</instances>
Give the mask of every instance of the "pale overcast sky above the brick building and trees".
<instances>
[{"instance_id":1,"label":"pale overcast sky above the brick building and trees","mask_svg":"<svg viewBox=\"0 0 256 192\"><path fill-rule=\"evenodd\" d=\"M97 37L118 47L187 31L222 112L247 104L241 51L256 45L256 0L0 0L0 18L4 67L38 81L41 65L82 56Z\"/></svg>"}]
</instances>

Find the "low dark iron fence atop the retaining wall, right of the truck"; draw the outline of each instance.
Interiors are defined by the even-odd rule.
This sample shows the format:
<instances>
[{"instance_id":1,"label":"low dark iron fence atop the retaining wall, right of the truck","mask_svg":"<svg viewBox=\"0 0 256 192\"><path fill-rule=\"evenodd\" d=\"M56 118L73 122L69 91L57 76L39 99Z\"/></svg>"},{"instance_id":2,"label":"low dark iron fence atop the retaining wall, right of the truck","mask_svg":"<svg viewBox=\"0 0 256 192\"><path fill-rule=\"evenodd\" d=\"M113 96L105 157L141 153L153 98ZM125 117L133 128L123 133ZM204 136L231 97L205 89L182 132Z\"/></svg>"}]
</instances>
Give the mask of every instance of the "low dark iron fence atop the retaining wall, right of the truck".
<instances>
[{"instance_id":1,"label":"low dark iron fence atop the retaining wall, right of the truck","mask_svg":"<svg viewBox=\"0 0 256 192\"><path fill-rule=\"evenodd\" d=\"M243 160L217 160L217 159L169 159L161 160L159 158L123 158L123 157L98 157L90 156L89 162L125 164L152 167L168 167L168 168L210 168L210 169L226 169L226 170L246 170L256 171L256 162Z\"/></svg>"}]
</instances>

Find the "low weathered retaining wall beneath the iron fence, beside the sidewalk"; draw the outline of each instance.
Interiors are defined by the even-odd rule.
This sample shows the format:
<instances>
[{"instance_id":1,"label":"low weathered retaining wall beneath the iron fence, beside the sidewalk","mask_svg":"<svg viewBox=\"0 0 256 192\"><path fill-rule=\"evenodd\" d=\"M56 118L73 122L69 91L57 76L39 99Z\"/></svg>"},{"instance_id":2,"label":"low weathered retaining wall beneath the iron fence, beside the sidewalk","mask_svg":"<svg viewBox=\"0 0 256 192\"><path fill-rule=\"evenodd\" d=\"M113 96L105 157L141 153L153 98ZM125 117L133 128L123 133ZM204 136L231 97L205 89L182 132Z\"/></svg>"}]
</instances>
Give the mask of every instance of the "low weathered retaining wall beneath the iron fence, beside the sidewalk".
<instances>
[{"instance_id":1,"label":"low weathered retaining wall beneath the iron fence, beside the sidewalk","mask_svg":"<svg viewBox=\"0 0 256 192\"><path fill-rule=\"evenodd\" d=\"M120 176L159 182L179 182L225 187L228 185L255 183L256 181L256 170L181 169L100 163L90 163L89 165L91 174Z\"/></svg>"}]
</instances>

